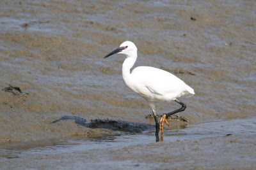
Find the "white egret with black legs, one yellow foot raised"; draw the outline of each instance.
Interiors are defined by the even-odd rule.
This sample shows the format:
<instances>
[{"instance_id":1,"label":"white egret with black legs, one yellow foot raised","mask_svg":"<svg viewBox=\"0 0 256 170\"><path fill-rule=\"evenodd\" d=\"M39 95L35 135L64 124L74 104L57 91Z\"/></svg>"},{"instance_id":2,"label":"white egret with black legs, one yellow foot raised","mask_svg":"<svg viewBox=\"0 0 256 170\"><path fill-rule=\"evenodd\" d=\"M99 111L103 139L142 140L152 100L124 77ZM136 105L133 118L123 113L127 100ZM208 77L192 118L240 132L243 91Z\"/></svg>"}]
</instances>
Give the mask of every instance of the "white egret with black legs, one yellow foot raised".
<instances>
[{"instance_id":1,"label":"white egret with black legs, one yellow foot raised","mask_svg":"<svg viewBox=\"0 0 256 170\"><path fill-rule=\"evenodd\" d=\"M137 47L131 41L125 41L116 50L106 55L104 58L109 57L115 53L122 53L126 55L122 67L122 74L124 83L129 89L136 92L138 95L143 97L150 108L152 109L155 122L156 122L156 136L158 137L159 129L161 134L163 134L163 122L165 117L184 111L186 109L186 104L179 101L178 97L191 97L195 94L194 90L186 85L184 81L177 78L173 74L164 71L162 69L157 69L155 67L140 66L132 70L131 68L137 59ZM172 111L163 115L160 121L156 117L155 102L170 102L175 101L179 103L182 107L178 110Z\"/></svg>"}]
</instances>

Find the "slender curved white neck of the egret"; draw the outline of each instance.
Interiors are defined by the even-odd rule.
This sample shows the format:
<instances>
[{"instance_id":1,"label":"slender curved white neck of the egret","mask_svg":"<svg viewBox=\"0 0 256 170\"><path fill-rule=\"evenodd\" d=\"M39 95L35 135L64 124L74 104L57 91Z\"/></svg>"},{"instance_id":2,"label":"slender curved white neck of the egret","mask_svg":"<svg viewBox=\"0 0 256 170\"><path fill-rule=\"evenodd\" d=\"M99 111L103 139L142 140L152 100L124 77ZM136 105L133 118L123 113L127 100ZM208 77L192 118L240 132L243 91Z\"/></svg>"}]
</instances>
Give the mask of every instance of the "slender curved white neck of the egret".
<instances>
[{"instance_id":1,"label":"slender curved white neck of the egret","mask_svg":"<svg viewBox=\"0 0 256 170\"><path fill-rule=\"evenodd\" d=\"M127 56L127 58L124 60L122 74L123 74L123 79L126 85L130 81L131 68L136 62L136 59L137 59L137 53L134 53L132 57Z\"/></svg>"}]
</instances>

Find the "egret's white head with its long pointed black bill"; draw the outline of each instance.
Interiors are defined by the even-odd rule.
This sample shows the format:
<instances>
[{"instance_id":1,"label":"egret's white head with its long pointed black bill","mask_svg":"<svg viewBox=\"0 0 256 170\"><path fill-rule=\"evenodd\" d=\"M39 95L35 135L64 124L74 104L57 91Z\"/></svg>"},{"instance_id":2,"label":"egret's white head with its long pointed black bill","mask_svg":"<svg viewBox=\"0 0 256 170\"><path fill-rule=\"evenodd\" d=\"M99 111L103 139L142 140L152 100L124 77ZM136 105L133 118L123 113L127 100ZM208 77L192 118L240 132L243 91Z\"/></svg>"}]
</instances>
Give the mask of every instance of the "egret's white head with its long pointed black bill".
<instances>
[{"instance_id":1,"label":"egret's white head with its long pointed black bill","mask_svg":"<svg viewBox=\"0 0 256 170\"><path fill-rule=\"evenodd\" d=\"M124 43L122 43L118 48L116 48L116 50L106 55L104 59L115 53L123 53L127 56L132 55L134 53L137 54L137 50L138 49L136 45L134 45L134 43L132 43L131 41L124 41Z\"/></svg>"}]
</instances>

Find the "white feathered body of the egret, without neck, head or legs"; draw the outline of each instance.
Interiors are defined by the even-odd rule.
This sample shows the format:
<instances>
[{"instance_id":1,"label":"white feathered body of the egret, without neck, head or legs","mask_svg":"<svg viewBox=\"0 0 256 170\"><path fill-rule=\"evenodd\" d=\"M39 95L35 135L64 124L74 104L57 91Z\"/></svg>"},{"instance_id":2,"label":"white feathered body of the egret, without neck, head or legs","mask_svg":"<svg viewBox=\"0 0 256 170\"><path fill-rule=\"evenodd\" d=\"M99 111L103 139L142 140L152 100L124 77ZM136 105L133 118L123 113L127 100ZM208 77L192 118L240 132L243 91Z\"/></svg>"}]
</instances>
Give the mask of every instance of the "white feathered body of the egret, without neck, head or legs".
<instances>
[{"instance_id":1,"label":"white feathered body of the egret, without neck, head or legs","mask_svg":"<svg viewBox=\"0 0 256 170\"><path fill-rule=\"evenodd\" d=\"M147 101L172 101L177 97L193 96L194 90L173 74L154 67L136 67L131 72L131 82L125 85Z\"/></svg>"}]
</instances>

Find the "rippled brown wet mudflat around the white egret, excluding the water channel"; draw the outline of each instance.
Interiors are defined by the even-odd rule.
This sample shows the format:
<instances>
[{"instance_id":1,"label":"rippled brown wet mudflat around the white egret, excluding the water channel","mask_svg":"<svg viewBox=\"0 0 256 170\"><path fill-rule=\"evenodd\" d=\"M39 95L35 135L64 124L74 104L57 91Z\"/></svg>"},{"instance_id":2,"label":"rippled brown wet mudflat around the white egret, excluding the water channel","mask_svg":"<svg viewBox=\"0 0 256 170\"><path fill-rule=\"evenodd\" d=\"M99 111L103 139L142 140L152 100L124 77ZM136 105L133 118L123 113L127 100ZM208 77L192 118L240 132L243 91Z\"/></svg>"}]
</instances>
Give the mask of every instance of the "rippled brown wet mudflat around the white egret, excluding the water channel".
<instances>
[{"instance_id":1,"label":"rippled brown wet mudflat around the white egret, excluding the water channel","mask_svg":"<svg viewBox=\"0 0 256 170\"><path fill-rule=\"evenodd\" d=\"M20 143L52 138L154 131L154 120L145 118L150 114L148 104L122 81L124 56L103 59L125 40L138 47L136 66L170 71L195 90L195 96L181 99L188 107L179 115L189 122L173 120L166 131L209 121L216 121L218 127L221 120L255 120L255 11L255 1L1 1L1 154L6 155L11 146L19 148ZM22 94L2 90L10 85L19 87ZM159 103L156 111L160 115L177 107L175 103ZM51 124L63 117L66 119ZM98 119L109 122L96 122L99 124L93 127L91 120ZM252 127L255 124L247 128ZM202 126L196 129L202 133L204 130ZM253 158L255 151L248 148L255 146L255 132L228 138L237 142L230 143L223 136L186 139L185 151L181 141L154 143L153 139L151 144L130 146L140 152L138 160L134 160L138 153L127 155L122 152L124 148L113 147L56 153L51 159L45 155L31 157L37 159L35 163L26 157L4 157L1 167L18 168L15 165L20 163L21 167L54 169L54 165L61 168L68 160L70 167L76 161L85 166L84 159L90 162L93 157L109 168L115 164L116 169L122 165L131 169L169 169L169 159L174 161L171 168L180 169L255 167L252 159L246 159ZM209 141L213 144L209 145ZM179 160L175 155L163 155L164 143L173 145L168 148L173 154L181 150ZM196 150L198 145L202 147L200 152ZM216 150L208 153L212 146ZM157 155L152 156L152 152ZM243 162L232 157L228 160L228 154L244 158ZM161 160L157 159L159 155ZM205 163L204 159L211 161ZM183 162L179 166L175 161Z\"/></svg>"}]
</instances>

